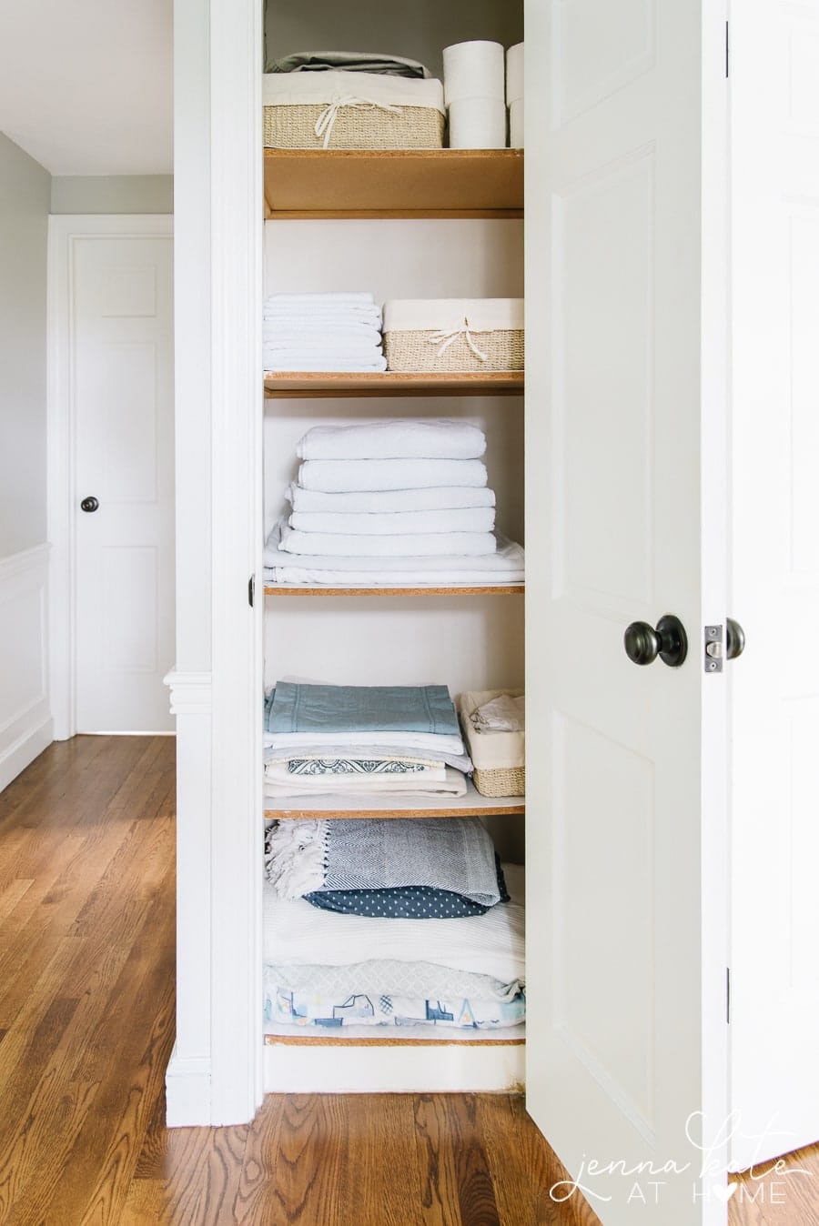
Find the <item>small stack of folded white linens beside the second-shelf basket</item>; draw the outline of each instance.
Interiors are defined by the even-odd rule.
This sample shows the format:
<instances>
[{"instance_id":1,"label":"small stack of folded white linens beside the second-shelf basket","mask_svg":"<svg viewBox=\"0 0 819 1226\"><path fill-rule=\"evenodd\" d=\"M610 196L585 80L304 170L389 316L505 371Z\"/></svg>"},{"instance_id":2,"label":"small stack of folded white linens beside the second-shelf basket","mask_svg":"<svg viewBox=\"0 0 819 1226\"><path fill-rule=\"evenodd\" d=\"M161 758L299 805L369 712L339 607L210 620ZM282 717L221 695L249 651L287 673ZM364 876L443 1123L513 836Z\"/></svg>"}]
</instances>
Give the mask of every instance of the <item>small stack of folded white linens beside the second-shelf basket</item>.
<instances>
[{"instance_id":1,"label":"small stack of folded white linens beside the second-shelf basket","mask_svg":"<svg viewBox=\"0 0 819 1226\"><path fill-rule=\"evenodd\" d=\"M262 331L265 370L386 370L368 293L272 294Z\"/></svg>"}]
</instances>

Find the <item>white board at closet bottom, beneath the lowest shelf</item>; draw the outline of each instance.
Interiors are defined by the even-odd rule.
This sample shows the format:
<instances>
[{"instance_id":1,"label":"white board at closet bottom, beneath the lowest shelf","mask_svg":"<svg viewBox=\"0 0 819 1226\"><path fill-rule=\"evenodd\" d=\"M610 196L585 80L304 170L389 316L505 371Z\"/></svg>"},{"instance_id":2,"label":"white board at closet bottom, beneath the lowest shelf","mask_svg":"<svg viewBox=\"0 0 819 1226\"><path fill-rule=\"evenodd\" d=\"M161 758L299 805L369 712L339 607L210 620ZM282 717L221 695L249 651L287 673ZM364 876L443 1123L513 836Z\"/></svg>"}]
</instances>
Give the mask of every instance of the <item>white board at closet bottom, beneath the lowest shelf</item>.
<instances>
[{"instance_id":1,"label":"white board at closet bottom, beneath the lowest shelf","mask_svg":"<svg viewBox=\"0 0 819 1226\"><path fill-rule=\"evenodd\" d=\"M479 1094L520 1091L522 1043L265 1045L265 1094Z\"/></svg>"}]
</instances>

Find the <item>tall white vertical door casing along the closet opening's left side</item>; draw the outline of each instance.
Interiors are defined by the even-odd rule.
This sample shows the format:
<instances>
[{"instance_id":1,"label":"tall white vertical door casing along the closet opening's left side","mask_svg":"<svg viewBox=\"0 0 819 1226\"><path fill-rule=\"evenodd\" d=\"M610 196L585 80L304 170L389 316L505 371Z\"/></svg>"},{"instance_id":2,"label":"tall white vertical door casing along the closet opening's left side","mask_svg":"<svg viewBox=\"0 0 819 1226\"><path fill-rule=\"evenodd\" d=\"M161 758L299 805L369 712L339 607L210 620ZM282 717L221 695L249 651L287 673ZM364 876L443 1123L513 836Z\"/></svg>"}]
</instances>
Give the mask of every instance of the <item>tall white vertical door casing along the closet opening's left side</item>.
<instances>
[{"instance_id":1,"label":"tall white vertical door casing along the closet opening's left side","mask_svg":"<svg viewBox=\"0 0 819 1226\"><path fill-rule=\"evenodd\" d=\"M211 0L212 1123L262 1098L261 0Z\"/></svg>"}]
</instances>

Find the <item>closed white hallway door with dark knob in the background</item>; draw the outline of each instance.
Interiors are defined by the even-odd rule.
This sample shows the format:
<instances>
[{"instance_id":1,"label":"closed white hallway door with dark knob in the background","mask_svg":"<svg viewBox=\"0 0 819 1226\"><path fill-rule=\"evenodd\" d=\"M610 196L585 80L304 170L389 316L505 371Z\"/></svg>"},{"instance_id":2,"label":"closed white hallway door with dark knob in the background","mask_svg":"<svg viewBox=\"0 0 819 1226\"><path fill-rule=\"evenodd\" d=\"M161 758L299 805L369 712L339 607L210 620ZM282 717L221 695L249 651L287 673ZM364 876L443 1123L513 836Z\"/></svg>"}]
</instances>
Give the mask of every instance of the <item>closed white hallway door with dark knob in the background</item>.
<instances>
[{"instance_id":1,"label":"closed white hallway door with dark knob in the background","mask_svg":"<svg viewBox=\"0 0 819 1226\"><path fill-rule=\"evenodd\" d=\"M76 729L172 731L172 239L78 238L71 275Z\"/></svg>"}]
</instances>

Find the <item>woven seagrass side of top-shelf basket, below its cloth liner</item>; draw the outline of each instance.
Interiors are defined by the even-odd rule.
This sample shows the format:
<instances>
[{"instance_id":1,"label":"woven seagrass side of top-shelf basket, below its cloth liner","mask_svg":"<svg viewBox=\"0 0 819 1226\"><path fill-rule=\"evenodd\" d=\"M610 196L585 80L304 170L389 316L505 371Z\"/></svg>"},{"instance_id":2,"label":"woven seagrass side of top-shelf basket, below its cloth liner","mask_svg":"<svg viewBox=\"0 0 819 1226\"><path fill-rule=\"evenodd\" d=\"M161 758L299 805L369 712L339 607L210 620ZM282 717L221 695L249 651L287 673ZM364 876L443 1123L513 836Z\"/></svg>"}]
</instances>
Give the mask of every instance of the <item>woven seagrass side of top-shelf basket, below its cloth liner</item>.
<instances>
[{"instance_id":1,"label":"woven seagrass side of top-shelf basket, below its cloth liner","mask_svg":"<svg viewBox=\"0 0 819 1226\"><path fill-rule=\"evenodd\" d=\"M265 148L278 150L439 150L444 146L444 115L432 107L341 105L330 139L316 134L326 113L324 103L265 107Z\"/></svg>"}]
</instances>

